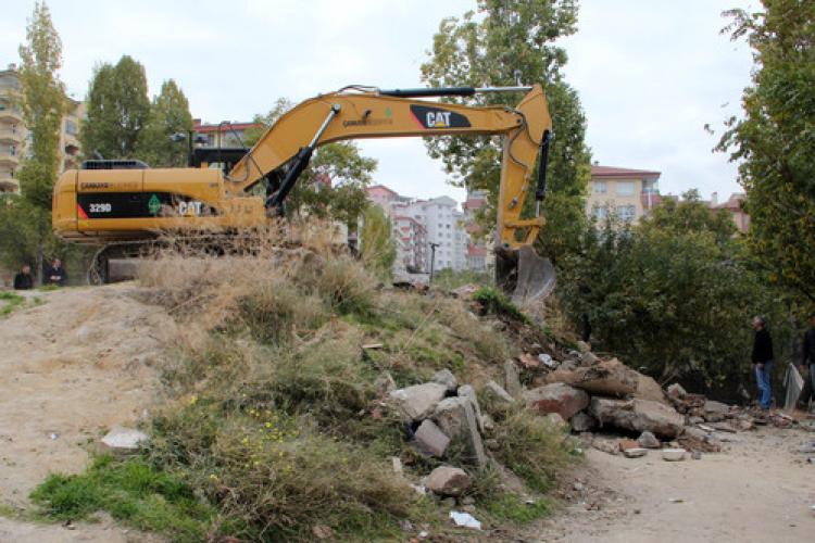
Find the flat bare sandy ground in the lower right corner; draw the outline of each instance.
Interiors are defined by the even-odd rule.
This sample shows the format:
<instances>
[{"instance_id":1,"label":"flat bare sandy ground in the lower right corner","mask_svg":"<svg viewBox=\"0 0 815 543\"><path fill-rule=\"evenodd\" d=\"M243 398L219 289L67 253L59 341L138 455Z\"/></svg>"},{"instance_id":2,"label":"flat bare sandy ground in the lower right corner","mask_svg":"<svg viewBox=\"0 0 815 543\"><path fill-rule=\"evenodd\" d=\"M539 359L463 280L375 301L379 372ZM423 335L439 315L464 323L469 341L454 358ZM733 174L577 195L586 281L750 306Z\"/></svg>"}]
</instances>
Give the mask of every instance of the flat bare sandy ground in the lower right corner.
<instances>
[{"instance_id":1,"label":"flat bare sandy ground in the lower right corner","mask_svg":"<svg viewBox=\"0 0 815 543\"><path fill-rule=\"evenodd\" d=\"M815 541L815 433L760 427L722 453L665 462L589 449L587 467L537 541ZM569 500L570 498L570 500Z\"/></svg>"}]
</instances>

